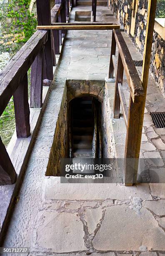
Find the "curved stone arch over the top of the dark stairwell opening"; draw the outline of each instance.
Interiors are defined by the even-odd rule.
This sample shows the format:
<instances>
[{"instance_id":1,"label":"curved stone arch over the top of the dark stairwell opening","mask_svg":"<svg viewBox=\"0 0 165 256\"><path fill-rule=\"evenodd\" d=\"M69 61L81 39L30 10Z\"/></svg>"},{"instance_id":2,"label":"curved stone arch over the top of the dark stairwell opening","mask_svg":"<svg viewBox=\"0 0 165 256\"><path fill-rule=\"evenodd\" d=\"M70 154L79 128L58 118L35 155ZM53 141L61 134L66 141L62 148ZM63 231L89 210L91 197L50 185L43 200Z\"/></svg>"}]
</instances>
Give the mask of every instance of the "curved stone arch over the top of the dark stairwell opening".
<instances>
[{"instance_id":1,"label":"curved stone arch over the top of the dark stairwell opening","mask_svg":"<svg viewBox=\"0 0 165 256\"><path fill-rule=\"evenodd\" d=\"M102 80L67 80L67 102L74 98L93 96L100 102L103 101L105 81Z\"/></svg>"}]
</instances>

